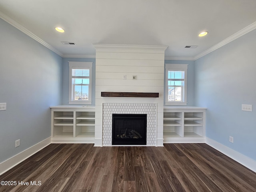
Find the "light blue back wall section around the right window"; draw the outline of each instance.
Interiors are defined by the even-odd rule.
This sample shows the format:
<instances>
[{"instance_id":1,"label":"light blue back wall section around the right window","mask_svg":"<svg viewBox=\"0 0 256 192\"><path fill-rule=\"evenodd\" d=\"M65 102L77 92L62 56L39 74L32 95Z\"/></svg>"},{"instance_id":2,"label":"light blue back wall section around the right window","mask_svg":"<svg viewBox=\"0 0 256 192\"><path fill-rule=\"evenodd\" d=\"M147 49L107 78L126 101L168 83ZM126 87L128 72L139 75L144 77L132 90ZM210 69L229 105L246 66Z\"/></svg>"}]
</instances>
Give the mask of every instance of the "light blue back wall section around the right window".
<instances>
[{"instance_id":1,"label":"light blue back wall section around the right window","mask_svg":"<svg viewBox=\"0 0 256 192\"><path fill-rule=\"evenodd\" d=\"M188 60L165 60L165 64L188 64L188 74L187 74L187 106L194 106L194 61ZM164 69L164 79L165 79L165 69ZM165 81L164 81L165 87ZM165 90L164 90L165 98Z\"/></svg>"}]
</instances>

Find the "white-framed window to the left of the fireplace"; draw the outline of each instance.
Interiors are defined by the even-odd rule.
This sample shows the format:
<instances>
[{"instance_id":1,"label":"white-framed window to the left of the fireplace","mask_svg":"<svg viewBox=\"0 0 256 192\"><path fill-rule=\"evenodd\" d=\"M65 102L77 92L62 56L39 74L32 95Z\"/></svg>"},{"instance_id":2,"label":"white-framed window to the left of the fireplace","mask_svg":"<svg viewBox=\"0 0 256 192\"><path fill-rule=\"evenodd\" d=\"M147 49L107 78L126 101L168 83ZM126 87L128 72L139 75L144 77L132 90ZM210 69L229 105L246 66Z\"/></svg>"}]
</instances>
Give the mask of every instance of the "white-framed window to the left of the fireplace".
<instances>
[{"instance_id":1,"label":"white-framed window to the left of the fireplace","mask_svg":"<svg viewBox=\"0 0 256 192\"><path fill-rule=\"evenodd\" d=\"M69 104L92 104L92 62L69 62Z\"/></svg>"}]
</instances>

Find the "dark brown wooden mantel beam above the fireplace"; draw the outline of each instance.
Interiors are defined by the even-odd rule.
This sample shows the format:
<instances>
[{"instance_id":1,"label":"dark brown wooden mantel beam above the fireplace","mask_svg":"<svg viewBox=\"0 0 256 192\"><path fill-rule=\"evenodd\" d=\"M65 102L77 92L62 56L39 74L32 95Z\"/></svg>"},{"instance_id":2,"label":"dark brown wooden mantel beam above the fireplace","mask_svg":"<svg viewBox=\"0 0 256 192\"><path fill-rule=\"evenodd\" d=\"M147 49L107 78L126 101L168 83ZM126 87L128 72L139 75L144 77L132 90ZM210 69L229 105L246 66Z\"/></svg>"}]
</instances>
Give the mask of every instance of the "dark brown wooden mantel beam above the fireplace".
<instances>
[{"instance_id":1,"label":"dark brown wooden mantel beam above the fireplace","mask_svg":"<svg viewBox=\"0 0 256 192\"><path fill-rule=\"evenodd\" d=\"M101 92L102 97L159 97L159 93Z\"/></svg>"}]
</instances>

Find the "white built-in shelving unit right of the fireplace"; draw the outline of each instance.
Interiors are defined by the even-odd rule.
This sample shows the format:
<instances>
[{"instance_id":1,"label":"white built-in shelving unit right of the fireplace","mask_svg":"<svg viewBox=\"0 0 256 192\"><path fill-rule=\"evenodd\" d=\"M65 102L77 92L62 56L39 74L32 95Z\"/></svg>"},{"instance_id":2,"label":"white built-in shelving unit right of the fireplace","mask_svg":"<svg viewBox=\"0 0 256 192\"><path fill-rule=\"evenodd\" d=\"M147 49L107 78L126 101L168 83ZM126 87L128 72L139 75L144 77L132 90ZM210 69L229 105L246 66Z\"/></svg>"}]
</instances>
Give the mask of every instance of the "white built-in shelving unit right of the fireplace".
<instances>
[{"instance_id":1,"label":"white built-in shelving unit right of the fireplace","mask_svg":"<svg viewBox=\"0 0 256 192\"><path fill-rule=\"evenodd\" d=\"M164 143L205 142L205 112L202 107L164 107Z\"/></svg>"}]
</instances>

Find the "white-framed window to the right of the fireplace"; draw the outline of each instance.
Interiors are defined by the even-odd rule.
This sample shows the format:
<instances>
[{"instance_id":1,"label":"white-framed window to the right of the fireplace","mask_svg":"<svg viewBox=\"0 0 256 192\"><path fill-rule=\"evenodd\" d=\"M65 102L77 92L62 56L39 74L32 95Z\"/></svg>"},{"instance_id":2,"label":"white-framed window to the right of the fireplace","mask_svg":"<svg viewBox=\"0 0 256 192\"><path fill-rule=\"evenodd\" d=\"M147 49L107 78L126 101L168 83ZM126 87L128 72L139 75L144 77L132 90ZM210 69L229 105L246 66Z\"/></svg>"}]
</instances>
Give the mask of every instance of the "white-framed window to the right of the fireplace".
<instances>
[{"instance_id":1,"label":"white-framed window to the right of the fireplace","mask_svg":"<svg viewBox=\"0 0 256 192\"><path fill-rule=\"evenodd\" d=\"M187 104L187 64L166 64L165 104Z\"/></svg>"}]
</instances>

